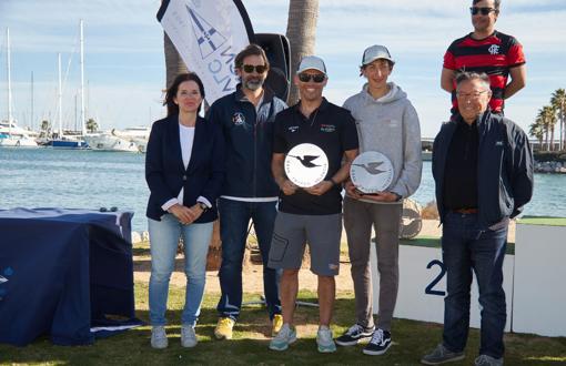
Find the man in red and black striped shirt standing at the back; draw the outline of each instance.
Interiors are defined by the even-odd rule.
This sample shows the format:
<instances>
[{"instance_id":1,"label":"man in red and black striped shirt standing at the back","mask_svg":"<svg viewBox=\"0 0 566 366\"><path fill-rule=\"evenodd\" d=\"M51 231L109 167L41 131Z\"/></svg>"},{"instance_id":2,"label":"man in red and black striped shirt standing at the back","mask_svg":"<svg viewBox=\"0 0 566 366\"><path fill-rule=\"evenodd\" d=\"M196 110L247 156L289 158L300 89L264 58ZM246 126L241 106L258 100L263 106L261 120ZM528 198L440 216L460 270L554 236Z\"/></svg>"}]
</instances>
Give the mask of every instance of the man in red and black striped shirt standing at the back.
<instances>
[{"instance_id":1,"label":"man in red and black striped shirt standing at the back","mask_svg":"<svg viewBox=\"0 0 566 366\"><path fill-rule=\"evenodd\" d=\"M452 93L453 112L457 111L454 78L459 70L489 75L493 93L489 106L495 113L503 113L504 100L525 87L523 47L514 37L495 30L499 6L501 0L473 0L469 10L474 31L452 42L444 54L441 85Z\"/></svg>"}]
</instances>

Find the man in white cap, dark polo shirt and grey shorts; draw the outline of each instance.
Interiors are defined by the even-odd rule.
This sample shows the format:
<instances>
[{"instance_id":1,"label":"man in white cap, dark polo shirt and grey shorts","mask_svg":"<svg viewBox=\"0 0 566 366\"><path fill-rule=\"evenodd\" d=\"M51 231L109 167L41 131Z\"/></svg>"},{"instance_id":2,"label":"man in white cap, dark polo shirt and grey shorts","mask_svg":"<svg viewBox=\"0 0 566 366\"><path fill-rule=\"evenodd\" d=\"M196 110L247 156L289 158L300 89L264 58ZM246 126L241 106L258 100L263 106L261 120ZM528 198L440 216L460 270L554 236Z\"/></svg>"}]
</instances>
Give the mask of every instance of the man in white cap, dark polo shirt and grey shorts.
<instances>
[{"instance_id":1,"label":"man in white cap, dark polo shirt and grey shorts","mask_svg":"<svg viewBox=\"0 0 566 366\"><path fill-rule=\"evenodd\" d=\"M330 322L335 297L334 276L338 274L340 263L341 183L348 177L350 165L357 155L357 132L350 112L322 96L327 75L320 58L305 57L294 82L301 101L277 114L273 140L272 172L281 192L269 266L283 270L280 287L283 327L270 348L284 350L296 340L293 313L297 275L309 242L311 271L319 276L316 344L319 352L330 353L336 350ZM329 169L322 182L300 189L286 176L284 162L291 149L304 143L314 144L325 153Z\"/></svg>"}]
</instances>

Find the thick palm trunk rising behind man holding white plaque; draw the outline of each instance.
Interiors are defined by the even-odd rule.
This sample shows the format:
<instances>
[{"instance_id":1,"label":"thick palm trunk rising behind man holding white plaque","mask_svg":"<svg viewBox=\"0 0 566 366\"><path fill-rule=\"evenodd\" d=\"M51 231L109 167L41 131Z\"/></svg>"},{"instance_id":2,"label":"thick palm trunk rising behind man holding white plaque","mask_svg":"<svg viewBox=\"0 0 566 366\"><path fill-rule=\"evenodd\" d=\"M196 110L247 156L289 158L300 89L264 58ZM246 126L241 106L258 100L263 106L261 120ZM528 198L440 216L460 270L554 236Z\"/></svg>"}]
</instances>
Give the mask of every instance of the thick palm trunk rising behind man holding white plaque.
<instances>
[{"instance_id":1,"label":"thick palm trunk rising behind man holding white plaque","mask_svg":"<svg viewBox=\"0 0 566 366\"><path fill-rule=\"evenodd\" d=\"M316 39L316 20L319 18L319 0L290 0L286 37L291 43L291 71L299 68L305 55L314 54ZM287 104L299 100L299 92L291 83Z\"/></svg>"}]
</instances>

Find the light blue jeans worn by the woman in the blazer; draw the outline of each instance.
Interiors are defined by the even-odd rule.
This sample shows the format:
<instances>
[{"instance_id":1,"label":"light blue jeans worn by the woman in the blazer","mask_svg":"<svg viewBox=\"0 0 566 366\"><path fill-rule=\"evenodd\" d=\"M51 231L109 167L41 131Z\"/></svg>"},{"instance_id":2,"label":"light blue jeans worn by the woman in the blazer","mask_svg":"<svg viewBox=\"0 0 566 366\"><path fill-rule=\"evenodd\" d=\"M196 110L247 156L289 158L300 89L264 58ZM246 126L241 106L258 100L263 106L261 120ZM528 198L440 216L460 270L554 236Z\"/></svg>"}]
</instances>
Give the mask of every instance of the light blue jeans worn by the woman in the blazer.
<instances>
[{"instance_id":1,"label":"light blue jeans worn by the woman in the blazer","mask_svg":"<svg viewBox=\"0 0 566 366\"><path fill-rule=\"evenodd\" d=\"M179 237L184 242L184 273L186 291L182 324L194 326L201 313L201 303L206 282L206 255L212 237L213 223L181 224L172 214L161 221L149 218L151 277L150 277L150 323L165 325L169 279L175 266Z\"/></svg>"}]
</instances>

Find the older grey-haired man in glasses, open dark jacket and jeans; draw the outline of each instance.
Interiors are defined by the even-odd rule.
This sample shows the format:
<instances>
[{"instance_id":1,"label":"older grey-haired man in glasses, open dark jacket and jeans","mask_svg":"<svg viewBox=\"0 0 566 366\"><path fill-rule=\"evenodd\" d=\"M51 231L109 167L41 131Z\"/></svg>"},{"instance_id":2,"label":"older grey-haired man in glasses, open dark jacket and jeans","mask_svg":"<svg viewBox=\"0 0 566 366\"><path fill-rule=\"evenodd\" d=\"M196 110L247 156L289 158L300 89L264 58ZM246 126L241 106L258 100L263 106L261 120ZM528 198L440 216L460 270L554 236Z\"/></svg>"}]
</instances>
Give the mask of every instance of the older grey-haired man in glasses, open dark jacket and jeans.
<instances>
[{"instance_id":1,"label":"older grey-haired man in glasses, open dark jacket and jeans","mask_svg":"<svg viewBox=\"0 0 566 366\"><path fill-rule=\"evenodd\" d=\"M488 109L487 74L457 75L456 95L459 113L442 126L433 148L447 271L443 343L421 362L438 365L465 357L473 270L482 306L475 364L503 365L507 227L533 195L533 153L523 130Z\"/></svg>"}]
</instances>

